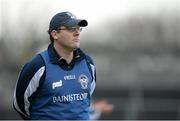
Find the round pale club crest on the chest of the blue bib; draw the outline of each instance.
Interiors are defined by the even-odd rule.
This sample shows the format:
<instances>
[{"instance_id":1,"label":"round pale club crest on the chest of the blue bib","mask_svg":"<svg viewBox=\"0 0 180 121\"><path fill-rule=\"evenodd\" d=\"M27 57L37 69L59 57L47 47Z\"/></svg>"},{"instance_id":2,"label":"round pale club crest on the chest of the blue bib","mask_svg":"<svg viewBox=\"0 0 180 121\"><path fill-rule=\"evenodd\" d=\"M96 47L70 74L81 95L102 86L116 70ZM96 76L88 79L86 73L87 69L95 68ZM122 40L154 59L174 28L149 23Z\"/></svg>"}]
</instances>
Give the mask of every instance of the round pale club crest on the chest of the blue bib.
<instances>
[{"instance_id":1,"label":"round pale club crest on the chest of the blue bib","mask_svg":"<svg viewBox=\"0 0 180 121\"><path fill-rule=\"evenodd\" d=\"M81 85L81 88L82 89L87 89L88 88L88 82L89 82L89 79L86 75L80 75L79 78L78 78L78 81Z\"/></svg>"}]
</instances>

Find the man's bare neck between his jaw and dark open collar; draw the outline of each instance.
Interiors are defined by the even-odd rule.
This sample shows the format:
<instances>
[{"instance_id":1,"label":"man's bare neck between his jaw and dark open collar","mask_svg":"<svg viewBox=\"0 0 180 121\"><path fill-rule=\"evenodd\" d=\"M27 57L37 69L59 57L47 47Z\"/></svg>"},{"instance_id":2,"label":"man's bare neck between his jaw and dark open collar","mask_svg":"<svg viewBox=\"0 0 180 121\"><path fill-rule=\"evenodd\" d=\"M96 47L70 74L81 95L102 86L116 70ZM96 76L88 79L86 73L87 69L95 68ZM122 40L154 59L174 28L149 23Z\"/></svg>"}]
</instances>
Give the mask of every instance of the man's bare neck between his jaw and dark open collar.
<instances>
[{"instance_id":1,"label":"man's bare neck between his jaw and dark open collar","mask_svg":"<svg viewBox=\"0 0 180 121\"><path fill-rule=\"evenodd\" d=\"M59 56L63 57L69 64L73 59L73 50L64 49L62 46L54 43L54 48Z\"/></svg>"}]
</instances>

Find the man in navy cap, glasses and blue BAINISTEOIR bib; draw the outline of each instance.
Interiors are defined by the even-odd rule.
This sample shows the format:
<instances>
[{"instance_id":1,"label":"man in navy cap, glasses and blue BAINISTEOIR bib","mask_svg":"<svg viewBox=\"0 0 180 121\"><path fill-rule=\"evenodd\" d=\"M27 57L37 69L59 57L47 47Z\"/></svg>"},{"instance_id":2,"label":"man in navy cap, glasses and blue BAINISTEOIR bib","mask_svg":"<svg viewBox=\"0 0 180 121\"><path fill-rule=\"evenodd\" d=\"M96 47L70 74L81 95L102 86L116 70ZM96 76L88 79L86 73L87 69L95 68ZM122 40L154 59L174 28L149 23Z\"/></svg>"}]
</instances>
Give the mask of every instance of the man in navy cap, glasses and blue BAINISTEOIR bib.
<instances>
[{"instance_id":1,"label":"man in navy cap, glasses and blue BAINISTEOIR bib","mask_svg":"<svg viewBox=\"0 0 180 121\"><path fill-rule=\"evenodd\" d=\"M49 24L51 44L20 72L13 106L23 119L88 120L95 89L95 66L80 48L86 20L70 12Z\"/></svg>"}]
</instances>

